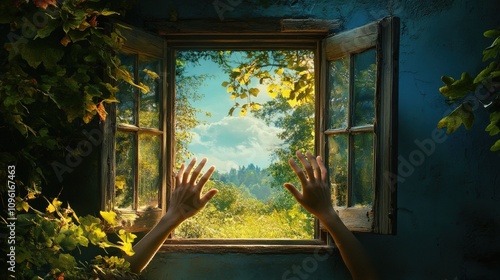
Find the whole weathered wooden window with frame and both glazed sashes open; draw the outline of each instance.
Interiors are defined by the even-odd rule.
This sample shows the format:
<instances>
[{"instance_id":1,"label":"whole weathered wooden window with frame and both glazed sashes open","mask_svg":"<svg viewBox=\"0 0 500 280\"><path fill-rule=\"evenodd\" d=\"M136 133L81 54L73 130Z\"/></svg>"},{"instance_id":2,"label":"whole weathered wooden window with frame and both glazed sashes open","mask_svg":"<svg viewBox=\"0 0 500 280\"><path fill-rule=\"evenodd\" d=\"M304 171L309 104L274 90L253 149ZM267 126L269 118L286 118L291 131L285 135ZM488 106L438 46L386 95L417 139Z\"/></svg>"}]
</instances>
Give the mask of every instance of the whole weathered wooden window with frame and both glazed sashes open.
<instances>
[{"instance_id":1,"label":"whole weathered wooden window with frame and both glazed sashes open","mask_svg":"<svg viewBox=\"0 0 500 280\"><path fill-rule=\"evenodd\" d=\"M315 136L311 141L315 153L327 159L336 209L353 231L395 233L396 176L391 174L396 174L397 162L397 18L334 36L328 33L339 27L338 21L148 24L164 39L127 31L125 36L130 40L122 62L137 83L153 90L141 93L140 88L122 87L121 103L110 110L110 119L115 122L105 124L112 131L107 139L112 140L105 143L109 152L103 153L109 175L103 179L104 209L138 215L132 226L135 230L149 229L165 212L176 150L180 149L175 138L176 122L182 120L176 115L179 53L306 50L313 54L314 68ZM200 26L205 29L200 30ZM148 71L157 71L160 77L151 79ZM228 99L229 85L224 85ZM237 110L242 108L240 104ZM312 228L309 240L171 239L168 243L239 244L245 248L249 244L326 244L326 234L317 220Z\"/></svg>"}]
</instances>

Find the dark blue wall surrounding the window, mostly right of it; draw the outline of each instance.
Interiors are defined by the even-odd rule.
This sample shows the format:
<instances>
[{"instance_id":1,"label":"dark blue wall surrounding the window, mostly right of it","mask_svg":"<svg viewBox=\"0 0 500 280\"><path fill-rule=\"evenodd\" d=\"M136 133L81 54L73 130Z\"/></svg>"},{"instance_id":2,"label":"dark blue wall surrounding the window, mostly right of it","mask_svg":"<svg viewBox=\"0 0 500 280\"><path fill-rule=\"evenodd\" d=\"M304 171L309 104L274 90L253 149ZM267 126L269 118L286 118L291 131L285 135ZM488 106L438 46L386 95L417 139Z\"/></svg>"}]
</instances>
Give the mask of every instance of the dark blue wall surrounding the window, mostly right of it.
<instances>
[{"instance_id":1,"label":"dark blue wall surrounding the window, mostly right of it","mask_svg":"<svg viewBox=\"0 0 500 280\"><path fill-rule=\"evenodd\" d=\"M140 1L131 16L136 24L168 18L171 11L181 19L218 18L212 4L212 0ZM499 11L498 0L248 0L223 14L225 18L340 18L345 30L387 15L400 17L399 157L405 162L417 153L428 153L423 163L401 166L404 182L398 186L397 235L359 236L382 279L500 279L500 157L489 151L493 139L484 133L487 115L476 110L470 131L461 128L443 135L436 129L450 109L438 92L440 76L476 74L483 67L481 52L490 42L482 33L500 26ZM426 143L428 150L417 142ZM145 275L282 279L287 270L305 264L311 273L303 279L349 279L337 254L317 261L314 270L306 260L311 255L158 254Z\"/></svg>"}]
</instances>

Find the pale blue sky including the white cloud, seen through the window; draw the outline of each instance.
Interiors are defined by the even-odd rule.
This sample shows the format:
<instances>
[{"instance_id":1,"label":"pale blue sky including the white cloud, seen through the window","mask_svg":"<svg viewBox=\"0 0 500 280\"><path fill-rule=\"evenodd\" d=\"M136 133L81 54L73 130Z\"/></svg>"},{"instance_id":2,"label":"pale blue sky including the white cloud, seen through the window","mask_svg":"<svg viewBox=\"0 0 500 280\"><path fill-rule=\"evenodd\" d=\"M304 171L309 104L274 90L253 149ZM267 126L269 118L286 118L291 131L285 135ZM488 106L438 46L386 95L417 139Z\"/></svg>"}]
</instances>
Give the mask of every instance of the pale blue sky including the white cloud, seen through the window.
<instances>
[{"instance_id":1,"label":"pale blue sky including the white cloud, seen through the window","mask_svg":"<svg viewBox=\"0 0 500 280\"><path fill-rule=\"evenodd\" d=\"M186 75L209 74L213 77L205 80L199 91L205 95L201 101L193 105L203 111L211 113L211 117L204 114L198 116L207 124L193 129L194 137L189 149L195 157L208 158L209 165L215 165L219 172L228 172L231 168L247 166L253 163L261 168L269 166L273 147L281 145L282 141L276 136L280 129L267 126L249 113L239 116L235 111L228 116L234 100L229 98L222 82L227 81L227 74L219 66L209 61L202 61L199 66L189 64ZM253 85L253 87L259 87ZM260 88L260 94L253 99L264 103L270 99L265 87Z\"/></svg>"}]
</instances>

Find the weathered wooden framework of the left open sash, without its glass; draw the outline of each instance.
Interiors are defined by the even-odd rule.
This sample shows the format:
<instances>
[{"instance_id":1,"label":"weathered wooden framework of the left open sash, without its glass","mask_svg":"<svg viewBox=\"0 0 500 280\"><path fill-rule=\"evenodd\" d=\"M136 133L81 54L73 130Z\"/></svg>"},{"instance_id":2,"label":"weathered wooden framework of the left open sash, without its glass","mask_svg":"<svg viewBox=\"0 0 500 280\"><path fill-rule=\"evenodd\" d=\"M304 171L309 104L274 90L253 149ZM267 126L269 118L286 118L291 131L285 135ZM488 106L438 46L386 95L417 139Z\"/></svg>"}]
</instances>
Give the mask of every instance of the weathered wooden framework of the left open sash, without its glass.
<instances>
[{"instance_id":1,"label":"weathered wooden framework of the left open sash, without its glass","mask_svg":"<svg viewBox=\"0 0 500 280\"><path fill-rule=\"evenodd\" d=\"M144 32L141 30L137 30L132 26L125 25L123 23L111 22L110 24L122 25L125 28L120 28L121 34L127 39L124 42L122 52L124 54L134 54L134 55L145 55L151 56L158 59L161 59L163 62L166 61L166 42L164 39L150 34L148 32ZM165 93L167 89L166 85L166 65L162 63L162 69L160 73L157 73L160 76L161 83L159 90L161 91L161 99L160 99L160 128L152 129L152 128L143 128L136 125L130 124L119 124L117 123L117 105L109 104L107 105L108 117L104 122L101 123L101 130L103 131L103 145L101 149L101 186L102 187L102 200L101 200L101 209L104 211L115 211L118 212L122 217L121 226L127 230L132 232L146 232L149 231L153 226L160 220L160 218L166 212L166 193L168 189L169 180L167 180L167 172L165 172L164 166L167 165L168 158L168 149L169 146L167 143L168 137L166 137L168 127L166 124L168 123L166 120L167 114L165 114L167 108L167 99L165 98ZM137 76L138 73L134 73ZM138 115L138 106L139 103L136 102L136 106L134 108L134 115ZM137 120L138 121L138 120ZM133 132L136 133L136 145L139 145L138 142L138 133L147 133L155 136L161 136L161 152L160 152L160 185L158 189L158 207L154 209L147 210L129 210L129 209L116 209L113 207L114 203L114 193L115 193L115 165L116 165L116 132ZM134 157L138 158L138 149L135 149ZM137 201L137 185L138 185L138 163L134 164L135 176L135 186L134 186L134 201Z\"/></svg>"}]
</instances>

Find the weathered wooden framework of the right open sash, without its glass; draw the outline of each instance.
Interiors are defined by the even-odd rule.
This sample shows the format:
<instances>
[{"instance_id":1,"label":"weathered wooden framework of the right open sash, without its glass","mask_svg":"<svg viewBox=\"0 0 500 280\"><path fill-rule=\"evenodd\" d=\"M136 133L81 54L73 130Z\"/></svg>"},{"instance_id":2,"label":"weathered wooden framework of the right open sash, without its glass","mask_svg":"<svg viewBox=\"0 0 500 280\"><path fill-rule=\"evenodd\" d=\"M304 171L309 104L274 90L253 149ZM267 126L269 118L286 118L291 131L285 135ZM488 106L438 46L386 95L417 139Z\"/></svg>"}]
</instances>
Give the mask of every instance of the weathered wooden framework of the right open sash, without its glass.
<instances>
[{"instance_id":1,"label":"weathered wooden framework of the right open sash, without its glass","mask_svg":"<svg viewBox=\"0 0 500 280\"><path fill-rule=\"evenodd\" d=\"M378 22L334 35L323 43L322 77L327 77L329 61L358 54L375 48L377 52L377 78L375 100L373 211L356 208L339 211L344 223L352 231L396 234L397 209L397 104L399 64L399 18L387 17ZM323 79L321 92L327 93L327 79ZM323 100L321 115L321 151L328 162L327 118L328 104ZM370 128L372 129L372 128ZM350 176L350 175L349 175ZM367 219L373 223L367 223Z\"/></svg>"}]
</instances>

